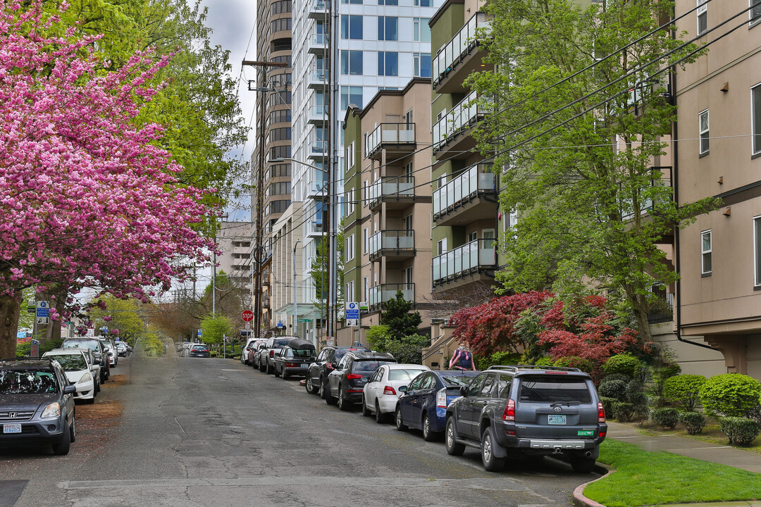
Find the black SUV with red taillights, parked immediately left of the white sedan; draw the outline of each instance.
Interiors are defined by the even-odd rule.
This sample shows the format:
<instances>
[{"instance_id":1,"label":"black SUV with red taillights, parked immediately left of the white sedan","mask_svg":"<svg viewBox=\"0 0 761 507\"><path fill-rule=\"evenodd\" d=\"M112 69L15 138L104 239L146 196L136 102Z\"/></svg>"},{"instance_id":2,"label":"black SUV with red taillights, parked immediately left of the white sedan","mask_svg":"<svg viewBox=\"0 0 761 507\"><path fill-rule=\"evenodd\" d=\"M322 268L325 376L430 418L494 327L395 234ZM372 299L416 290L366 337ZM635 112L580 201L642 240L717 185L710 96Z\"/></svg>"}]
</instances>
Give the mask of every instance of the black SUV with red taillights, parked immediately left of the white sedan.
<instances>
[{"instance_id":1,"label":"black SUV with red taillights, parked immediately left of the white sedan","mask_svg":"<svg viewBox=\"0 0 761 507\"><path fill-rule=\"evenodd\" d=\"M328 375L326 403L337 403L340 410L349 410L352 404L362 401L365 384L375 370L390 363L396 363L390 353L358 350L345 353L340 363L333 363L333 371Z\"/></svg>"}]
</instances>

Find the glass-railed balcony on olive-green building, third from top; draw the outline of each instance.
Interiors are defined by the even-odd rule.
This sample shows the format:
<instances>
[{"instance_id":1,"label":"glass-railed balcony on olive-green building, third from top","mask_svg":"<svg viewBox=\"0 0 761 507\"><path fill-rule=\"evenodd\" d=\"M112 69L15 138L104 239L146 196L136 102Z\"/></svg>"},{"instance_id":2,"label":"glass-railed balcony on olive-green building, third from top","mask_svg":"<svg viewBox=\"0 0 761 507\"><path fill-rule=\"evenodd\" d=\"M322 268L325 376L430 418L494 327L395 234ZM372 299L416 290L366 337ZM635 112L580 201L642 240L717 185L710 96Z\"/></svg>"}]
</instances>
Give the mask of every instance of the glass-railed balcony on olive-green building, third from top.
<instances>
[{"instance_id":1,"label":"glass-railed balcony on olive-green building, third from top","mask_svg":"<svg viewBox=\"0 0 761 507\"><path fill-rule=\"evenodd\" d=\"M497 175L492 164L470 166L460 176L433 192L433 220L437 226L494 219L497 214Z\"/></svg>"}]
</instances>

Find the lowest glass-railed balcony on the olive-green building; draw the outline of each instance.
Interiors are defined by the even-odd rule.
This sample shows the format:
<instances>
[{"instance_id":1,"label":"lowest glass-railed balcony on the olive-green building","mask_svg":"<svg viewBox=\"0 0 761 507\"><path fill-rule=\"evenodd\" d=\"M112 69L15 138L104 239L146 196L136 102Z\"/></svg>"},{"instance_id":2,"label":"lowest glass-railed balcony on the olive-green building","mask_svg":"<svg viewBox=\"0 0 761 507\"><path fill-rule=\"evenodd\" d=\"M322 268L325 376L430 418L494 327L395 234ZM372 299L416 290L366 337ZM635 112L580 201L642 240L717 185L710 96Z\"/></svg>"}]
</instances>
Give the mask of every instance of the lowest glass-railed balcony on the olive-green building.
<instances>
[{"instance_id":1,"label":"lowest glass-railed balcony on the olive-green building","mask_svg":"<svg viewBox=\"0 0 761 507\"><path fill-rule=\"evenodd\" d=\"M494 276L497 268L497 249L494 239L476 239L433 258L431 281L433 287L451 284L464 277L478 280L482 274ZM475 275L475 276L474 276Z\"/></svg>"}]
</instances>

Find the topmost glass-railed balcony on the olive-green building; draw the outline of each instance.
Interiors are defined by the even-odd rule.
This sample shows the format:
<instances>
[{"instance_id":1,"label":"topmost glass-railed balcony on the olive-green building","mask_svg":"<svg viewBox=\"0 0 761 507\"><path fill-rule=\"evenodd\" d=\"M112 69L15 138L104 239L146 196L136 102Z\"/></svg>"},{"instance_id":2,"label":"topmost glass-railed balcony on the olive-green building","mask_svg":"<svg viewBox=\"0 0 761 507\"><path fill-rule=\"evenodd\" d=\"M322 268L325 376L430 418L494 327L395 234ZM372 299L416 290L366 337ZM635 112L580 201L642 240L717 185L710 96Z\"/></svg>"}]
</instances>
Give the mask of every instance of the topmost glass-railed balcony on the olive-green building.
<instances>
[{"instance_id":1,"label":"topmost glass-railed balcony on the olive-green building","mask_svg":"<svg viewBox=\"0 0 761 507\"><path fill-rule=\"evenodd\" d=\"M479 36L476 32L480 31ZM486 14L476 12L465 26L443 48L436 52L431 62L433 89L438 93L462 93L463 79L475 70L489 70L481 67L484 52L479 50L482 40L491 31L491 22ZM457 74L457 78L455 78Z\"/></svg>"}]
</instances>

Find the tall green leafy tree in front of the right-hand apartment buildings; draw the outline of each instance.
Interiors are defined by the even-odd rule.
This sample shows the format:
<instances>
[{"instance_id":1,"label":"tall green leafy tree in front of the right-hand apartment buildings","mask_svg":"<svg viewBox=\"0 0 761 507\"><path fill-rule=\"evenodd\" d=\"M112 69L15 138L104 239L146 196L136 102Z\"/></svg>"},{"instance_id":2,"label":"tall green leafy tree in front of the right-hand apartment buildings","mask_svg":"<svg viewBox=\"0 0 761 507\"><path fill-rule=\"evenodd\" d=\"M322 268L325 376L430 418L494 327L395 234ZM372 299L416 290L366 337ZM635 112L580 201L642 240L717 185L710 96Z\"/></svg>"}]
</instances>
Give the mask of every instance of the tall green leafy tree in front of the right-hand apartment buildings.
<instances>
[{"instance_id":1,"label":"tall green leafy tree in front of the right-hand apartment buildings","mask_svg":"<svg viewBox=\"0 0 761 507\"><path fill-rule=\"evenodd\" d=\"M495 70L468 84L493 113L476 137L483 153L496 154L501 208L518 214L500 242L499 280L506 291L552 286L562 297L590 282L611 287L650 341L651 287L678 277L658 244L716 204L673 201L670 173L654 162L677 118L664 71L694 61L697 48L680 47L670 30L645 36L670 14L669 1L492 0L485 8L486 63Z\"/></svg>"}]
</instances>

